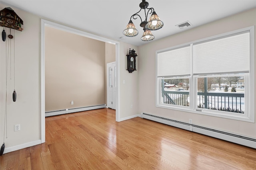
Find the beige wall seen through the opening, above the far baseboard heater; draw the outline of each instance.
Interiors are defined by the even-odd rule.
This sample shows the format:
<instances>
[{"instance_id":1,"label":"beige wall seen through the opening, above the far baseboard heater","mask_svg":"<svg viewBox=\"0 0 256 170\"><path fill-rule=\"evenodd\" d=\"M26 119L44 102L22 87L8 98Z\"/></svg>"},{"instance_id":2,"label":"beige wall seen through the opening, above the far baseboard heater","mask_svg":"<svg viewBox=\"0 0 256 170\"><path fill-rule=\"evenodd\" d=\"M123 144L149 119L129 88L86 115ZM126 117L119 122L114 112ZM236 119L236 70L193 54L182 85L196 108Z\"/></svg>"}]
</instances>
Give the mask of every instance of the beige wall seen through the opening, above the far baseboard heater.
<instances>
[{"instance_id":1,"label":"beige wall seen through the opening, above the far baseboard heater","mask_svg":"<svg viewBox=\"0 0 256 170\"><path fill-rule=\"evenodd\" d=\"M104 42L45 28L46 111L106 104L105 74Z\"/></svg>"}]
</instances>

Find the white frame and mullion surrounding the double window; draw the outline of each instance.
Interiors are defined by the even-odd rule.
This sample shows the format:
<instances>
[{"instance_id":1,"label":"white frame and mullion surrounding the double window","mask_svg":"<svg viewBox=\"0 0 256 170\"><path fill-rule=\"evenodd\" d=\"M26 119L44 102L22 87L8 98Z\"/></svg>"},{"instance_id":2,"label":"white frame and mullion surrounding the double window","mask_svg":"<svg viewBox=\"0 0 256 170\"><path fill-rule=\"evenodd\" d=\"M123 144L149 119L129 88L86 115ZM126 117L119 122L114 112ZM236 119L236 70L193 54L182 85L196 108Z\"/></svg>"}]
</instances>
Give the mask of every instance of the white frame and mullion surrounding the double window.
<instances>
[{"instance_id":1,"label":"white frame and mullion surrounding the double window","mask_svg":"<svg viewBox=\"0 0 256 170\"><path fill-rule=\"evenodd\" d=\"M245 97L244 97L244 103L245 103L245 113L241 114L241 113L234 113L234 112L230 112L228 113L228 111L216 111L216 110L210 110L210 109L198 109L197 108L197 102L196 102L196 96L197 96L197 77L200 75L194 75L193 74L193 65L192 65L192 60L193 60L193 53L191 53L191 76L187 76L190 77L189 82L190 82L190 90L189 90L189 94L190 94L190 106L189 107L180 107L180 106L175 106L175 105L170 105L170 104L161 104L161 79L165 78L165 77L158 77L157 76L157 66L158 66L158 53L162 53L164 51L170 51L172 49L177 49L177 48L181 48L187 45L191 46L191 51L192 51L192 46L195 43L200 43L202 41L209 41L211 39L218 39L218 38L222 38L225 36L230 36L232 34L237 34L237 33L241 33L244 31L249 31L250 32L250 71L249 73L244 73L243 76L245 76L244 78L244 84L246 84L245 87ZM173 110L178 110L178 111L185 111L185 112L190 112L190 113L196 113L196 114L202 114L202 115L210 115L210 116L215 116L215 117L222 117L222 118L228 118L228 119L235 119L235 120L240 120L240 121L247 121L247 122L253 122L255 123L255 84L254 84L254 77L255 77L255 66L254 66L254 26L251 27L246 27L246 28L242 28L242 29L238 29L235 31L230 31L228 33L223 33L220 35L215 35L212 37L207 37L204 39L199 39L196 41L192 41L189 43L185 43L182 45L177 45L174 47L170 47L167 49L162 49L162 50L158 50L156 51L156 107L161 107L161 108L166 108L166 109L173 109ZM215 74L216 75L220 75L220 74ZM227 76L228 73L224 73L223 76ZM210 76L210 75L208 75ZM168 78L168 77L166 77ZM177 77L178 78L178 77Z\"/></svg>"}]
</instances>

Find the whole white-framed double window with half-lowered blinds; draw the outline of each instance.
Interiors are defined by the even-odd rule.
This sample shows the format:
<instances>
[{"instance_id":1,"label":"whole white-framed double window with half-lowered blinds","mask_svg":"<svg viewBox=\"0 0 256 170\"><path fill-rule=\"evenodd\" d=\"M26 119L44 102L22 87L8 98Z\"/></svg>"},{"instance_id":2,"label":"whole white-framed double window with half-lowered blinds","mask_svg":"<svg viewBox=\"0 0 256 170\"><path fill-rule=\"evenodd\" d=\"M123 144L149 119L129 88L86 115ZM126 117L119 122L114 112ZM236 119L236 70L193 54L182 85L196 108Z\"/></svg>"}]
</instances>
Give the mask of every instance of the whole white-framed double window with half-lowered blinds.
<instances>
[{"instance_id":1,"label":"whole white-framed double window with half-lowered blinds","mask_svg":"<svg viewBox=\"0 0 256 170\"><path fill-rule=\"evenodd\" d=\"M156 51L156 106L254 122L254 26Z\"/></svg>"}]
</instances>

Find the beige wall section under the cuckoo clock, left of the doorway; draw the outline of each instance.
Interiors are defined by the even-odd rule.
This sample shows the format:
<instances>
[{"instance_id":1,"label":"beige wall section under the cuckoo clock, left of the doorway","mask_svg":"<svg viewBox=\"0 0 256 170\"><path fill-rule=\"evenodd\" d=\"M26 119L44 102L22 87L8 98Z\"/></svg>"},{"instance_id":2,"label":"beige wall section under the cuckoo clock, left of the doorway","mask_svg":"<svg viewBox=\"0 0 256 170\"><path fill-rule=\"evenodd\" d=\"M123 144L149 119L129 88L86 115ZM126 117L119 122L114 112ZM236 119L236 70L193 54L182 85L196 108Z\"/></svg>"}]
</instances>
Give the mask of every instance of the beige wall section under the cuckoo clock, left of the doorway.
<instances>
[{"instance_id":1,"label":"beige wall section under the cuckoo clock, left of the doorway","mask_svg":"<svg viewBox=\"0 0 256 170\"><path fill-rule=\"evenodd\" d=\"M6 8L0 4L0 9ZM41 138L40 112L40 18L28 12L11 7L24 21L24 30L15 31L15 89L16 102L12 101L14 79L8 75L7 133L5 148L30 144ZM1 31L3 27L0 27ZM13 29L12 29L13 31ZM8 41L8 38L6 39ZM14 46L12 46L13 48ZM0 143L4 136L6 42L0 41ZM12 53L13 54L13 53ZM13 62L12 58L12 62ZM14 69L12 63L12 69ZM10 73L10 65L9 65ZM13 70L12 70L13 73ZM20 124L20 131L14 132L14 125Z\"/></svg>"}]
</instances>

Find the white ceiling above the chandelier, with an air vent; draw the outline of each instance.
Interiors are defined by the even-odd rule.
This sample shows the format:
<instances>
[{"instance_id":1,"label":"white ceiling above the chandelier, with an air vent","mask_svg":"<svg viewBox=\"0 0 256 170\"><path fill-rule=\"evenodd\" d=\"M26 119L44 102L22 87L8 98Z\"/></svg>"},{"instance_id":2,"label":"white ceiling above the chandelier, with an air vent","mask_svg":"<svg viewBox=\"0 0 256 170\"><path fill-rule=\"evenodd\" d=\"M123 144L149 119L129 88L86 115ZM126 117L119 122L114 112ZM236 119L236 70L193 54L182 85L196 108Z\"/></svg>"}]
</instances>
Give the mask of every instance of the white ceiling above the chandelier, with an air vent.
<instances>
[{"instance_id":1,"label":"white ceiling above the chandelier, with an air vent","mask_svg":"<svg viewBox=\"0 0 256 170\"><path fill-rule=\"evenodd\" d=\"M164 27L152 31L156 39L192 29L226 16L256 7L256 0L146 0L164 22ZM141 0L0 0L0 3L31 12L44 19L56 21L102 37L143 45L140 19L132 20L139 34L126 37L123 30L130 17L140 10ZM2 9L1 9L2 10ZM19 14L18 14L19 15ZM145 16L144 12L139 15ZM150 16L150 15L149 15ZM148 18L149 18L148 16ZM145 20L145 17L142 18ZM175 26L189 21L190 27ZM26 21L24 21L26 25ZM123 38L121 38L123 37Z\"/></svg>"}]
</instances>

